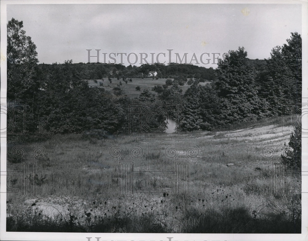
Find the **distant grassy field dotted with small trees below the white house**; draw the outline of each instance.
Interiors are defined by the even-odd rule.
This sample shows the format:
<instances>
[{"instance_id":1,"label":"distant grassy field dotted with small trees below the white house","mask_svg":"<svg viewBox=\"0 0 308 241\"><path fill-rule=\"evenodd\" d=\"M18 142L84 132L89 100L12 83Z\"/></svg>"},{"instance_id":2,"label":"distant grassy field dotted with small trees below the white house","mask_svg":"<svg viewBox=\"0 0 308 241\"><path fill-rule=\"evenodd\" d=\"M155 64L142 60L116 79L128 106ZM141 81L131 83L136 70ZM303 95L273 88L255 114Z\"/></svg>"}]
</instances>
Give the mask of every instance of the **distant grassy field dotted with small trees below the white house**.
<instances>
[{"instance_id":1,"label":"distant grassy field dotted with small trees below the white house","mask_svg":"<svg viewBox=\"0 0 308 241\"><path fill-rule=\"evenodd\" d=\"M128 80L129 78L127 78ZM152 93L156 93L152 91L152 88L155 85L164 85L167 78L159 78L159 79L152 79L152 78L132 78L132 82L128 81L127 84L120 78L120 80L117 80L116 78L111 78L111 83L109 82L108 78L104 78L103 80L97 79L97 83L94 82L94 80L87 80L89 83L89 86L95 86L95 87L102 87L105 90L109 90L112 93L112 89L117 86L117 84L122 82L122 87L124 87L124 94L126 94L130 98L139 97L140 93L144 89L149 89ZM173 79L172 79L173 80ZM99 86L100 82L103 83L103 86ZM206 83L210 82L200 82L201 85L205 85ZM140 86L140 90L136 90L136 87ZM185 93L185 91L190 87L187 83L184 83L184 86L180 86L183 90L182 94ZM170 88L170 87L169 87Z\"/></svg>"}]
</instances>

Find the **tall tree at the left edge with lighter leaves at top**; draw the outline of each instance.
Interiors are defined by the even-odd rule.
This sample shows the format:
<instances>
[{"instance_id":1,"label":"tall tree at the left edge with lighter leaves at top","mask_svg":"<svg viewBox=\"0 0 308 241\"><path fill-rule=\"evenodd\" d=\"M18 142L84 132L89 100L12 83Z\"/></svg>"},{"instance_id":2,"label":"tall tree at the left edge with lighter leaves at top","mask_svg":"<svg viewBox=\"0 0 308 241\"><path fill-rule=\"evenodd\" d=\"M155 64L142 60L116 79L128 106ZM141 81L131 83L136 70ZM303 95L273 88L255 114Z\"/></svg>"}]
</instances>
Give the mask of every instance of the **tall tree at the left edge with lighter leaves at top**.
<instances>
[{"instance_id":1,"label":"tall tree at the left edge with lighter leaves at top","mask_svg":"<svg viewBox=\"0 0 308 241\"><path fill-rule=\"evenodd\" d=\"M12 18L7 24L7 98L25 105L26 131L35 128L35 106L39 90L36 46L26 36L23 22ZM17 123L16 123L17 124Z\"/></svg>"}]
</instances>

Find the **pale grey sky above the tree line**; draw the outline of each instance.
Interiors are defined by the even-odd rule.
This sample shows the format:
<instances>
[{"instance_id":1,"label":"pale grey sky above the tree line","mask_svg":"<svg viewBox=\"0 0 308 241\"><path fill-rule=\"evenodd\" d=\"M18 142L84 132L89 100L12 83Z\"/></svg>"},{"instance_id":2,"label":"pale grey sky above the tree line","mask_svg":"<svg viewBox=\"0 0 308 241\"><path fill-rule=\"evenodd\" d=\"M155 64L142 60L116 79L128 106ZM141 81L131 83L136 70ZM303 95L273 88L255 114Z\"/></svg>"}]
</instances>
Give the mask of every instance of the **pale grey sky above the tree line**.
<instances>
[{"instance_id":1,"label":"pale grey sky above the tree line","mask_svg":"<svg viewBox=\"0 0 308 241\"><path fill-rule=\"evenodd\" d=\"M187 53L187 63L215 68L215 58L239 46L248 58L264 59L291 32L302 34L298 4L11 4L7 21L11 18L23 21L40 63L88 62L87 49L92 56L100 49L100 62L121 63L122 55L126 66L151 63L151 56L167 64L169 56L179 62L175 53L180 58ZM126 56L114 61L111 53Z\"/></svg>"}]
</instances>

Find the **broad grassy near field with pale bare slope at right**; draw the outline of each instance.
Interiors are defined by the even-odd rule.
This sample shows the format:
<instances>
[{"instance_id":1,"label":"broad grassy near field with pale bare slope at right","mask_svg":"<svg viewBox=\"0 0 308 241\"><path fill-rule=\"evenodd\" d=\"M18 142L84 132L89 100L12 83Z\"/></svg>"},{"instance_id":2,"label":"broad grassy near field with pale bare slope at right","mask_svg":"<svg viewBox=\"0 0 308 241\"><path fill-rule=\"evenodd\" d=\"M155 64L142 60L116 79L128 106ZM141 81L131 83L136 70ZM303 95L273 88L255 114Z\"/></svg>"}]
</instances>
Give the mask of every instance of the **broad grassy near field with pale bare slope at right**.
<instances>
[{"instance_id":1,"label":"broad grassy near field with pale bare slope at right","mask_svg":"<svg viewBox=\"0 0 308 241\"><path fill-rule=\"evenodd\" d=\"M38 197L26 196L25 203L14 203L15 196L8 195L7 231L300 233L301 196L272 195L272 160L262 155L264 147L273 146L279 157L288 143L289 135L282 134L280 123L280 118L271 118L229 130L168 135L172 140L161 148L159 139L150 138L149 149L134 135L101 140L59 135L26 143L44 146L48 157L38 160ZM291 132L291 118L284 123ZM190 203L190 198L169 202L174 179L164 176L137 176L134 197L112 202L119 195L119 166L109 151L121 145L142 147L134 171L147 167L157 171L159 166L160 171L172 171L174 158L166 156L167 146L197 146L198 155L189 160L190 196L195 202ZM125 157L128 154L123 152ZM20 163L8 163L8 170L20 169ZM8 177L9 187L20 185L20 179ZM300 177L287 176L286 187L299 188Z\"/></svg>"}]
</instances>

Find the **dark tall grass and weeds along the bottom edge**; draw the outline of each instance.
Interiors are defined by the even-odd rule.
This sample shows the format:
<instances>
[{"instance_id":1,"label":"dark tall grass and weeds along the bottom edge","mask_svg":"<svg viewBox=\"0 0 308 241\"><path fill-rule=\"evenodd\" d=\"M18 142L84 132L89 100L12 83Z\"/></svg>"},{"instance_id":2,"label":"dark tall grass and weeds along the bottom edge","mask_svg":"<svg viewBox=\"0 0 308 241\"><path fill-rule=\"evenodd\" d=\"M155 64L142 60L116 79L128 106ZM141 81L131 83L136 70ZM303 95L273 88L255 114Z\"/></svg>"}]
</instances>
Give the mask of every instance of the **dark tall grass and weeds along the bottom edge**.
<instances>
[{"instance_id":1,"label":"dark tall grass and weeds along the bottom edge","mask_svg":"<svg viewBox=\"0 0 308 241\"><path fill-rule=\"evenodd\" d=\"M164 205L164 203L163 203ZM169 204L173 206L172 204ZM97 233L301 233L300 200L284 205L268 205L276 212L261 217L244 206L206 208L205 205L185 204L177 206L173 214L164 207L162 212L135 214L134 209L115 209L95 215L95 211L59 214L54 218L41 215L39 210L28 210L6 219L7 231L27 232L97 232ZM286 208L287 207L287 208ZM284 211L281 212L281 209ZM107 210L105 210L107 212Z\"/></svg>"}]
</instances>

